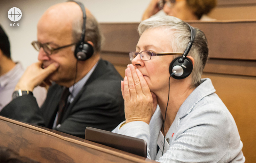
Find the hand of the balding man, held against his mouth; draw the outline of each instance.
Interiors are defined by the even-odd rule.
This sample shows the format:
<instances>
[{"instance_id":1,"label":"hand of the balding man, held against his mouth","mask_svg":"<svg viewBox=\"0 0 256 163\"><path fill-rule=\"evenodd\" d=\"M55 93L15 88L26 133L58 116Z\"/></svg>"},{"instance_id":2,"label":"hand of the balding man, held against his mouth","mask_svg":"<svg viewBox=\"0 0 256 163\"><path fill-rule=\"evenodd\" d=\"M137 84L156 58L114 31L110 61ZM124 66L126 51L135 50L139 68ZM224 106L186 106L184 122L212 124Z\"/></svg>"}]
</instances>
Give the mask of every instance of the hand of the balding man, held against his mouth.
<instances>
[{"instance_id":1,"label":"hand of the balding man, held against his mouth","mask_svg":"<svg viewBox=\"0 0 256 163\"><path fill-rule=\"evenodd\" d=\"M51 84L46 78L58 69L59 64L52 63L45 69L42 69L41 66L41 62L30 65L20 78L15 90L21 89L33 91L33 89L38 85L46 86Z\"/></svg>"}]
</instances>

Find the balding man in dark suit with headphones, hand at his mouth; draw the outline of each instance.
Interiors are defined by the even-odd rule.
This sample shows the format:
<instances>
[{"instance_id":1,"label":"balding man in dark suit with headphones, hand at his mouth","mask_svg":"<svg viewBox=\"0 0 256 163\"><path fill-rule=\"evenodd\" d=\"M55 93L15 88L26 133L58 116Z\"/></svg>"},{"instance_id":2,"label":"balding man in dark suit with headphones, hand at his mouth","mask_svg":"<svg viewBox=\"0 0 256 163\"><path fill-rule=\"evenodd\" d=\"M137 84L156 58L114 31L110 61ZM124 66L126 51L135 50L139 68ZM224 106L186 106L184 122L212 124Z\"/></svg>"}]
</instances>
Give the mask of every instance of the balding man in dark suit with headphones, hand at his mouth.
<instances>
[{"instance_id":1,"label":"balding man in dark suit with headphones, hand at his mouth","mask_svg":"<svg viewBox=\"0 0 256 163\"><path fill-rule=\"evenodd\" d=\"M50 7L32 42L39 62L25 71L1 115L82 138L87 126L113 130L124 120L122 78L111 63L100 59L101 41L98 22L81 3ZM39 108L30 91L50 81Z\"/></svg>"}]
</instances>

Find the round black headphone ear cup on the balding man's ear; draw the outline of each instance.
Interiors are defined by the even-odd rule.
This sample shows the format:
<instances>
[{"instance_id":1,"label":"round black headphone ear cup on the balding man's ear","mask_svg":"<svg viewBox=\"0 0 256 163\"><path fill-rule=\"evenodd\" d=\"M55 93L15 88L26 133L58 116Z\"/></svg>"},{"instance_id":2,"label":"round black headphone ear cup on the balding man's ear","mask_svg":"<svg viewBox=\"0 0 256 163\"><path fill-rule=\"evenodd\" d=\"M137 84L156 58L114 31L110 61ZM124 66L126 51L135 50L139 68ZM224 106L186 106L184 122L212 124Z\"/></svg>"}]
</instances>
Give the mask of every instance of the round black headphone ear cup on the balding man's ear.
<instances>
[{"instance_id":1,"label":"round black headphone ear cup on the balding man's ear","mask_svg":"<svg viewBox=\"0 0 256 163\"><path fill-rule=\"evenodd\" d=\"M92 56L93 52L94 50L91 44L81 42L76 45L75 57L79 61L85 61Z\"/></svg>"}]
</instances>

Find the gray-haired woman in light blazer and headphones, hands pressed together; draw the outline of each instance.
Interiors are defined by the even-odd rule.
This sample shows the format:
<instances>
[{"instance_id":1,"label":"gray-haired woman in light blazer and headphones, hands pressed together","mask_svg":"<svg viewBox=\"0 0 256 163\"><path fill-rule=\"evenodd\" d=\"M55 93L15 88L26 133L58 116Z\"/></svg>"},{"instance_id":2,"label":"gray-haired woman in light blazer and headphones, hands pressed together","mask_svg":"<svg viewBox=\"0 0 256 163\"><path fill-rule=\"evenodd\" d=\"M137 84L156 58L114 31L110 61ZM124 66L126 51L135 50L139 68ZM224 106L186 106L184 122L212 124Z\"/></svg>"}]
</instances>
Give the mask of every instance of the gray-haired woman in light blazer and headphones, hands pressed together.
<instances>
[{"instance_id":1,"label":"gray-haired woman in light blazer and headphones, hands pressed together","mask_svg":"<svg viewBox=\"0 0 256 163\"><path fill-rule=\"evenodd\" d=\"M236 123L209 78L205 35L172 16L140 23L122 85L126 121L113 132L144 139L162 163L244 163Z\"/></svg>"}]
</instances>

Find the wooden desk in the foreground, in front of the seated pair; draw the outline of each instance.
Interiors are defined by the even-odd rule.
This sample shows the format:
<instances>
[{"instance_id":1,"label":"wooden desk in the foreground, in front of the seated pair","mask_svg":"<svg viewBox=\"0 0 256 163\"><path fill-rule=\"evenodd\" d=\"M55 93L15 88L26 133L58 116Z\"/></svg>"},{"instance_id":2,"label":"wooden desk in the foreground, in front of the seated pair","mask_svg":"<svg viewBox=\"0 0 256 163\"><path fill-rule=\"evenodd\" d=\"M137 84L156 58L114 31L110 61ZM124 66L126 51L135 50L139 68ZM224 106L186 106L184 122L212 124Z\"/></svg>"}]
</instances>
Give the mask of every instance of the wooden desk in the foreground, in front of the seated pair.
<instances>
[{"instance_id":1,"label":"wooden desk in the foreground, in front of the seated pair","mask_svg":"<svg viewBox=\"0 0 256 163\"><path fill-rule=\"evenodd\" d=\"M0 116L0 146L41 163L149 163L153 160Z\"/></svg>"}]
</instances>

